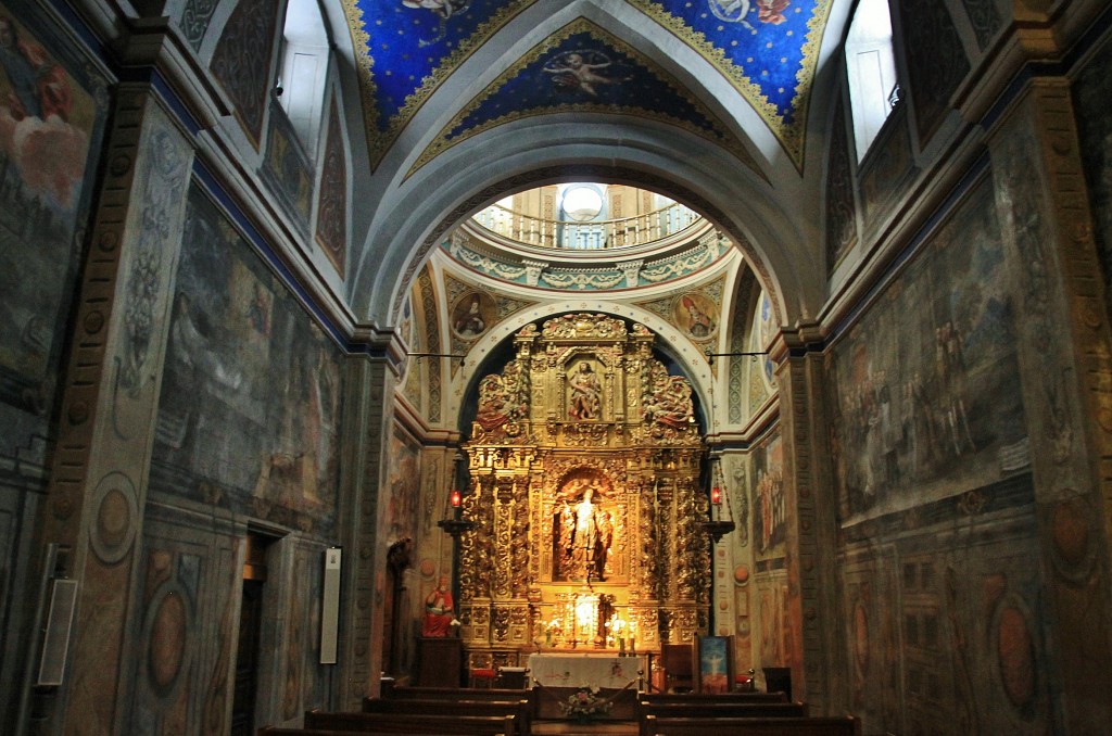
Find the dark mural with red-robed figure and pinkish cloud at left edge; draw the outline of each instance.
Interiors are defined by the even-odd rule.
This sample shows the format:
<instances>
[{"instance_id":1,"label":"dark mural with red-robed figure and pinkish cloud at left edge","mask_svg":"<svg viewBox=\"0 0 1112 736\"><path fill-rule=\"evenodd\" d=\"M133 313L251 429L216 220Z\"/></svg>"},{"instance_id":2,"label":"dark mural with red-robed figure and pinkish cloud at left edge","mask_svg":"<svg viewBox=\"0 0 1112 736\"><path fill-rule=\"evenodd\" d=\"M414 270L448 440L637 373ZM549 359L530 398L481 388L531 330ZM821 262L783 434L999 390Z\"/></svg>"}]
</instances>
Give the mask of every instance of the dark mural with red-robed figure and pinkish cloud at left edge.
<instances>
[{"instance_id":1,"label":"dark mural with red-robed figure and pinkish cloud at left edge","mask_svg":"<svg viewBox=\"0 0 1112 736\"><path fill-rule=\"evenodd\" d=\"M73 298L103 80L0 6L0 451L46 436ZM40 458L41 460L41 458Z\"/></svg>"}]
</instances>

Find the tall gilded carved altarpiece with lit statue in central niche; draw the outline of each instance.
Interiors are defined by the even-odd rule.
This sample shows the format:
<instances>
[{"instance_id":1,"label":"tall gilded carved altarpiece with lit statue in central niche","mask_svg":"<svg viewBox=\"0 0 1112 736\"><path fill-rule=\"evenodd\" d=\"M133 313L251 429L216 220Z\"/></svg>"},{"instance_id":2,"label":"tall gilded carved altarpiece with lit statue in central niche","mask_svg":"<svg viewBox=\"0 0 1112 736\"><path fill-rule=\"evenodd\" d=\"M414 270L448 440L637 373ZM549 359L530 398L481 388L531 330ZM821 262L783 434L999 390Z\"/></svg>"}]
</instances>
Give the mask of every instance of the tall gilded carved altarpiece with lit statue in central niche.
<instances>
[{"instance_id":1,"label":"tall gilded carved altarpiece with lit statue in central niche","mask_svg":"<svg viewBox=\"0 0 1112 736\"><path fill-rule=\"evenodd\" d=\"M705 454L692 386L605 315L528 325L479 381L460 539L470 667L537 650L659 650L705 633Z\"/></svg>"}]
</instances>

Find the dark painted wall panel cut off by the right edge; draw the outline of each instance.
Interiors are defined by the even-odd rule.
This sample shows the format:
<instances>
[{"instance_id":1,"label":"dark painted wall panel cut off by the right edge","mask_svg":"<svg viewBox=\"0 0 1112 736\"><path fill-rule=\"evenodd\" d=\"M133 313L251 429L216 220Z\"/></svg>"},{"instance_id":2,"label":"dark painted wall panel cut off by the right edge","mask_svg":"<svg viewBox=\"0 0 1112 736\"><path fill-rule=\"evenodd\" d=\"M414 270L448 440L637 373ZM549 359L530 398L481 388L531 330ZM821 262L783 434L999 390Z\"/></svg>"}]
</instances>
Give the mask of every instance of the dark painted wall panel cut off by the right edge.
<instances>
[{"instance_id":1,"label":"dark painted wall panel cut off by the right edge","mask_svg":"<svg viewBox=\"0 0 1112 736\"><path fill-rule=\"evenodd\" d=\"M1074 111L1078 136L1084 159L1085 180L1092 201L1093 223L1101 265L1104 267L1104 294L1112 309L1112 40L1076 76Z\"/></svg>"}]
</instances>

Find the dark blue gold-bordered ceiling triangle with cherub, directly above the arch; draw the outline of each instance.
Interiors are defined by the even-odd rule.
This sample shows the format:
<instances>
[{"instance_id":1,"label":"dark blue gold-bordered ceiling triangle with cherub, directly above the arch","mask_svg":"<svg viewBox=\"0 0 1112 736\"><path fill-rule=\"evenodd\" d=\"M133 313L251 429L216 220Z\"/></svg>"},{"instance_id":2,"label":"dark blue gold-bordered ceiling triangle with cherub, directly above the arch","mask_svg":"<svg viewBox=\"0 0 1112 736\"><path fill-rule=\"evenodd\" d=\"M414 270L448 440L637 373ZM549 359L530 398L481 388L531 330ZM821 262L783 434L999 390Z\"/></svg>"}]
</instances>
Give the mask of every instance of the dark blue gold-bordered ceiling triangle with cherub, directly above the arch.
<instances>
[{"instance_id":1,"label":"dark blue gold-bordered ceiling triangle with cherub, directly above the arch","mask_svg":"<svg viewBox=\"0 0 1112 736\"><path fill-rule=\"evenodd\" d=\"M562 112L629 115L671 123L722 146L764 177L737 137L705 105L644 54L584 18L534 47L464 106L409 175L480 132Z\"/></svg>"}]
</instances>

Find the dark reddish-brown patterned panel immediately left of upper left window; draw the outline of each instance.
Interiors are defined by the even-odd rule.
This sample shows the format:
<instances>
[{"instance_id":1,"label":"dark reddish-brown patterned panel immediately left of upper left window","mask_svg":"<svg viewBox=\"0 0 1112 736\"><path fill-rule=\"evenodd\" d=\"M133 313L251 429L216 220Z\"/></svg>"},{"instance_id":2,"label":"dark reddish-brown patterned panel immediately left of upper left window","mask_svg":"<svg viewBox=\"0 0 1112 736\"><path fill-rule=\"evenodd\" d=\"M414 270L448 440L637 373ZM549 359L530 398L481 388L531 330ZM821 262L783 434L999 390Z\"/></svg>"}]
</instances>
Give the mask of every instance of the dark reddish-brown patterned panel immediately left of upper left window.
<instances>
[{"instance_id":1,"label":"dark reddish-brown patterned panel immediately left of upper left window","mask_svg":"<svg viewBox=\"0 0 1112 736\"><path fill-rule=\"evenodd\" d=\"M256 148L262 139L262 118L274 79L270 57L280 7L280 2L272 0L239 0L224 27L210 64Z\"/></svg>"}]
</instances>

